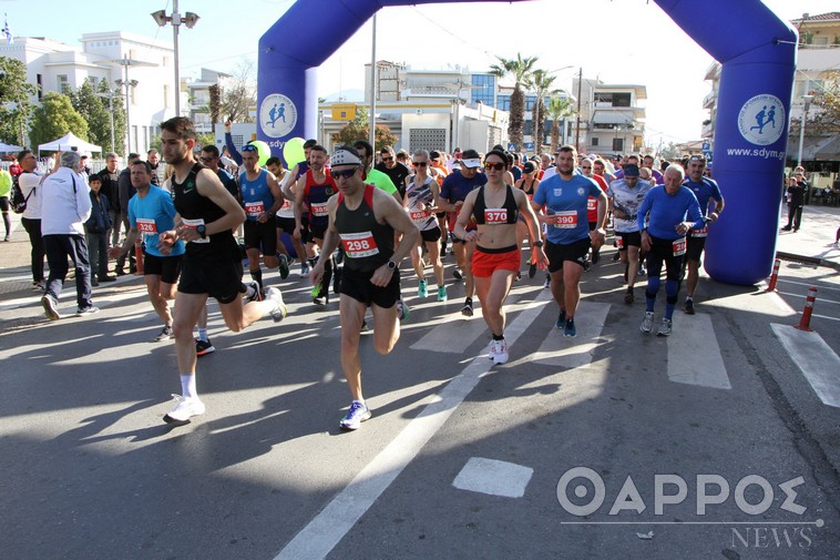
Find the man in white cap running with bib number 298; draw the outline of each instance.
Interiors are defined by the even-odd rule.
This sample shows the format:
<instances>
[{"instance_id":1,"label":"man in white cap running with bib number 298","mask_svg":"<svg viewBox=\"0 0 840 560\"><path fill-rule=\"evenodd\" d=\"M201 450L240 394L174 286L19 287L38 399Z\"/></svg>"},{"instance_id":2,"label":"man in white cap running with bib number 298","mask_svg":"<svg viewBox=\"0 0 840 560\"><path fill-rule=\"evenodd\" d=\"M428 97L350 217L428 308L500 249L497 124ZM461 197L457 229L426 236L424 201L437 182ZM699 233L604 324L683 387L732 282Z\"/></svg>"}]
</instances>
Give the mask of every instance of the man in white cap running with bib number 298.
<instances>
[{"instance_id":1,"label":"man in white cap running with bib number 298","mask_svg":"<svg viewBox=\"0 0 840 560\"><path fill-rule=\"evenodd\" d=\"M350 388L350 410L339 422L355 430L370 418L361 394L359 329L368 306L373 312L373 347L380 354L393 349L400 337L399 317L407 307L398 305L399 264L420 242L420 232L402 206L385 191L361 180L361 159L352 147L338 147L332 154L332 177L339 194L328 202L329 225L318 264L309 278L318 285L324 265L339 243L345 248L341 278L341 369ZM340 198L340 202L339 202ZM393 234L403 235L393 248Z\"/></svg>"}]
</instances>

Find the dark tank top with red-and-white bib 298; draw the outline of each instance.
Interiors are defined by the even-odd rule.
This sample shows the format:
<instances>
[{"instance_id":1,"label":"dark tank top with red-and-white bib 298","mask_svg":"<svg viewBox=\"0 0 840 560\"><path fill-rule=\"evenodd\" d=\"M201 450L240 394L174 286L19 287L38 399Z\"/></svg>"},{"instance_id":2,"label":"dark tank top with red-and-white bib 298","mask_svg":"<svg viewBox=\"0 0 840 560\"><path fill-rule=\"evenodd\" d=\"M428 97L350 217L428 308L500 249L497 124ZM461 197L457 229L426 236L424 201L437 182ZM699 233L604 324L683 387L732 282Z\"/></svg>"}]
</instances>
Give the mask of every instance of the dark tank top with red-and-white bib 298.
<instances>
[{"instance_id":1,"label":"dark tank top with red-and-white bib 298","mask_svg":"<svg viewBox=\"0 0 840 560\"><path fill-rule=\"evenodd\" d=\"M359 207L350 210L344 193L338 193L336 230L345 248L345 266L349 271L372 272L393 256L393 227L377 222L373 214L373 185L365 185Z\"/></svg>"}]
</instances>

